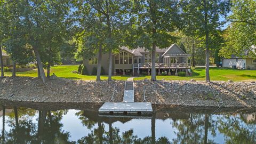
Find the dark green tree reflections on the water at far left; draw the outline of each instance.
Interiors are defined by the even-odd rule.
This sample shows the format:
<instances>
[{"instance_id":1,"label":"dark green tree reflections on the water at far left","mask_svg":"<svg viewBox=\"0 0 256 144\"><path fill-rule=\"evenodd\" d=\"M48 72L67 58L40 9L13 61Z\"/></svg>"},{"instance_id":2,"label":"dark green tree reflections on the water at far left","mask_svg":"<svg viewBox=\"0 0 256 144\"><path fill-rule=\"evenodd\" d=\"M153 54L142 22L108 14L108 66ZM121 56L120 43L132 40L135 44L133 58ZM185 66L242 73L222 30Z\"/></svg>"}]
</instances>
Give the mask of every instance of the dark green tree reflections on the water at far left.
<instances>
[{"instance_id":1,"label":"dark green tree reflections on the water at far left","mask_svg":"<svg viewBox=\"0 0 256 144\"><path fill-rule=\"evenodd\" d=\"M67 111L38 111L38 123L33 122L33 116L22 113L23 108L14 107L15 124L13 123L13 112L10 113L9 126L11 130L6 133L4 143L75 143L69 141L70 134L61 130L60 123L63 114ZM31 109L27 109L31 112ZM36 117L36 113L34 113ZM24 117L24 118L20 118ZM4 118L4 117L3 117Z\"/></svg>"}]
</instances>

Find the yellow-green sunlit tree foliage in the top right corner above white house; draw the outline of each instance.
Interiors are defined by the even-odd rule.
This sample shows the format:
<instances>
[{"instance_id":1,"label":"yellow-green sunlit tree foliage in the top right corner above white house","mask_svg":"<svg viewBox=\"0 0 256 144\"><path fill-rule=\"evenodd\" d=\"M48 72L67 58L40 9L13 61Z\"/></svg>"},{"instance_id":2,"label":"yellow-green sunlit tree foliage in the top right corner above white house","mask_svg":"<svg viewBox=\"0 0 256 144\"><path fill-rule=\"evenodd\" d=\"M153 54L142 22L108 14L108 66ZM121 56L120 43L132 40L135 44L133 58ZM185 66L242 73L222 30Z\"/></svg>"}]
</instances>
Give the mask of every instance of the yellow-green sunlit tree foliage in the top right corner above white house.
<instances>
[{"instance_id":1,"label":"yellow-green sunlit tree foliage in the top right corner above white house","mask_svg":"<svg viewBox=\"0 0 256 144\"><path fill-rule=\"evenodd\" d=\"M231 2L232 13L228 17L230 25L223 35L226 45L222 46L220 56L230 58L234 54L241 58L255 58L256 54L251 46L256 45L256 2L252 0Z\"/></svg>"}]
</instances>

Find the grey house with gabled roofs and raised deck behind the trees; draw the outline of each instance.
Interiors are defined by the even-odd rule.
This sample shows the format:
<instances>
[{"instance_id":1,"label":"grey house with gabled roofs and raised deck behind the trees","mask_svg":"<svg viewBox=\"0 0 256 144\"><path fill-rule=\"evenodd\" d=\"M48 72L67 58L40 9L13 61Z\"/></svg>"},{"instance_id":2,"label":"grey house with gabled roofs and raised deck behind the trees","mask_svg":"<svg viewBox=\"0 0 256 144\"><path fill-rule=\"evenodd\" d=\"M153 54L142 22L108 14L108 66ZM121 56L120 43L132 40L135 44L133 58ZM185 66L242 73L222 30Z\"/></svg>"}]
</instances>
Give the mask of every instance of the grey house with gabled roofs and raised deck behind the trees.
<instances>
[{"instance_id":1,"label":"grey house with gabled roofs and raised deck behind the trees","mask_svg":"<svg viewBox=\"0 0 256 144\"><path fill-rule=\"evenodd\" d=\"M186 54L177 44L173 44L165 49L156 47L156 73L161 75L164 71L168 75L178 75L178 71L190 72L191 55ZM120 47L118 53L112 55L112 73L114 75L138 75L151 74L151 52L138 47L130 50L127 47ZM83 59L83 65L86 66L89 74L92 74L93 67L97 68L98 54L90 59ZM103 69L108 71L108 54L102 54Z\"/></svg>"}]
</instances>

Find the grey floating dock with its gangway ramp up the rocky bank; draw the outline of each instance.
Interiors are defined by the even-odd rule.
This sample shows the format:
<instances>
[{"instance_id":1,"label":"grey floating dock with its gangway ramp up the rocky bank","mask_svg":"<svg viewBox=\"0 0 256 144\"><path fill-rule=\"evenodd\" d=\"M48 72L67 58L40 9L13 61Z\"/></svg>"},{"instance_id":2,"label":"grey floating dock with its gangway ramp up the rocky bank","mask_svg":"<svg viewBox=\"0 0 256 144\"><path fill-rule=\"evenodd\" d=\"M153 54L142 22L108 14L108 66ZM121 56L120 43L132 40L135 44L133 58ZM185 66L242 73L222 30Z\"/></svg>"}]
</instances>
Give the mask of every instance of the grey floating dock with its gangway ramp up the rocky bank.
<instances>
[{"instance_id":1,"label":"grey floating dock with its gangway ramp up the rocky bank","mask_svg":"<svg viewBox=\"0 0 256 144\"><path fill-rule=\"evenodd\" d=\"M151 114L150 102L134 102L133 81L126 81L123 102L105 102L99 109L100 114Z\"/></svg>"}]
</instances>

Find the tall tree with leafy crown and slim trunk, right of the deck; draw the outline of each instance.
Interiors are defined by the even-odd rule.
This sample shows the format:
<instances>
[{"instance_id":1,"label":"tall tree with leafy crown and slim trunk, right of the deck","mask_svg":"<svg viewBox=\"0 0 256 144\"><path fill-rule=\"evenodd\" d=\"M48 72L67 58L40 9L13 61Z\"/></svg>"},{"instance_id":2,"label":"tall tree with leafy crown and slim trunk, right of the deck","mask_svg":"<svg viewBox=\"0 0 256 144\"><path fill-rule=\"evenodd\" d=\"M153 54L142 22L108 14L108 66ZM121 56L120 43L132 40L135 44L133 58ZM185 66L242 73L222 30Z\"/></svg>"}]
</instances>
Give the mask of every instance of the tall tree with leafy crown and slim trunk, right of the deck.
<instances>
[{"instance_id":1,"label":"tall tree with leafy crown and slim trunk, right of the deck","mask_svg":"<svg viewBox=\"0 0 256 144\"><path fill-rule=\"evenodd\" d=\"M185 0L181 1L185 25L189 31L204 39L205 47L205 73L206 82L210 82L209 57L211 45L211 34L218 30L223 21L220 17L226 16L229 12L229 1L222 0Z\"/></svg>"}]
</instances>

